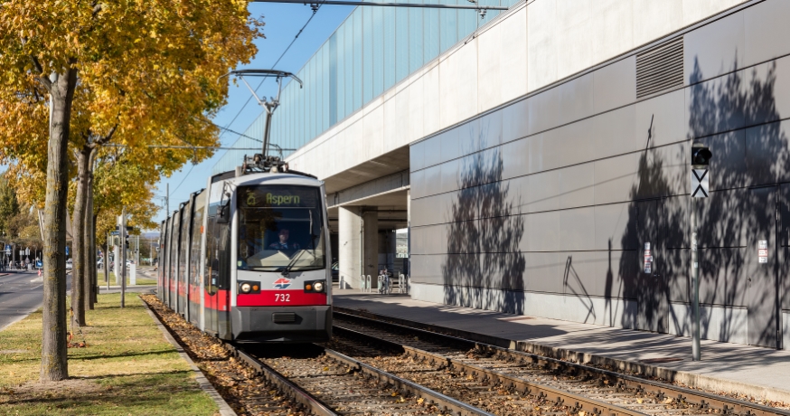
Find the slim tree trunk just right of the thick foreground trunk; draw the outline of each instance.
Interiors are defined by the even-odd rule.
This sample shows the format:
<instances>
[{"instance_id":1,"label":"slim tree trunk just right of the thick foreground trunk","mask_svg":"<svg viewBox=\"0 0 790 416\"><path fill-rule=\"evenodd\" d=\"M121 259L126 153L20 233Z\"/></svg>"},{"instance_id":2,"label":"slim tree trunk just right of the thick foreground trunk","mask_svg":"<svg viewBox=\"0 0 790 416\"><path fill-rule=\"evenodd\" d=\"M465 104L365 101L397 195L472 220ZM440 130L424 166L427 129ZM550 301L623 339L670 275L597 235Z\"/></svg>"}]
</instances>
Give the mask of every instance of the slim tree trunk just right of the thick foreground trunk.
<instances>
[{"instance_id":1,"label":"slim tree trunk just right of the thick foreground trunk","mask_svg":"<svg viewBox=\"0 0 790 416\"><path fill-rule=\"evenodd\" d=\"M85 236L88 235L85 223L85 205L88 187L88 163L90 147L83 146L77 156L77 197L74 201L74 214L71 216L71 229L74 238L74 253L71 257L71 308L74 310L74 319L80 326L85 326L85 288L88 279L85 273L85 255L87 253Z\"/></svg>"}]
</instances>

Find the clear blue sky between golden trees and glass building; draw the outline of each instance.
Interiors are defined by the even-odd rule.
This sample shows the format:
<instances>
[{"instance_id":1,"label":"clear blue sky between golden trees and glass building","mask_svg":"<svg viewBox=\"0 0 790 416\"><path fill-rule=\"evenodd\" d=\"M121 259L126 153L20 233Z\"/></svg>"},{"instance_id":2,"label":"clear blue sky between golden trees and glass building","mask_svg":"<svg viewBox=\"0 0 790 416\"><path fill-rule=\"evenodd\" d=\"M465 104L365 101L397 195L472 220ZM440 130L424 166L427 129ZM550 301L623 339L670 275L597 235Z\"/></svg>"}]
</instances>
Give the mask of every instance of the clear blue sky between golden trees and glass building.
<instances>
[{"instance_id":1,"label":"clear blue sky between golden trees and glass building","mask_svg":"<svg viewBox=\"0 0 790 416\"><path fill-rule=\"evenodd\" d=\"M321 47L329 35L343 23L343 20L351 14L353 6L350 5L323 5L315 17L307 24L304 32L299 34L296 42L279 61L277 67L280 71L298 72L308 59ZM249 65L240 65L237 69L271 69L277 58L286 50L291 41L294 40L296 33L305 25L313 11L308 5L277 4L277 3L250 3L249 12L253 16L263 18L266 24L263 33L266 39L256 41L258 54ZM248 80L249 82L249 80ZM252 87L256 87L259 80L253 79L250 82ZM267 80L258 91L259 97L272 97L277 95L277 84L273 80ZM238 86L230 84L228 104L222 108L214 118L214 124L222 128L238 133L244 133L255 118L258 118L263 109L258 102L252 98L249 90L239 81ZM246 107L245 102L249 99ZM239 117L236 117L237 114ZM233 118L236 118L229 125ZM221 134L220 141L222 147L230 147L238 136L230 132ZM171 175L162 177L156 185L155 203L160 203L162 209L154 218L155 222L162 222L166 218L165 214L165 184L170 184L170 211L174 211L179 203L189 199L189 195L199 191L206 186L206 181L212 172L212 166L224 155L224 150L218 150L210 159L206 159L198 165L187 163L183 168Z\"/></svg>"}]
</instances>

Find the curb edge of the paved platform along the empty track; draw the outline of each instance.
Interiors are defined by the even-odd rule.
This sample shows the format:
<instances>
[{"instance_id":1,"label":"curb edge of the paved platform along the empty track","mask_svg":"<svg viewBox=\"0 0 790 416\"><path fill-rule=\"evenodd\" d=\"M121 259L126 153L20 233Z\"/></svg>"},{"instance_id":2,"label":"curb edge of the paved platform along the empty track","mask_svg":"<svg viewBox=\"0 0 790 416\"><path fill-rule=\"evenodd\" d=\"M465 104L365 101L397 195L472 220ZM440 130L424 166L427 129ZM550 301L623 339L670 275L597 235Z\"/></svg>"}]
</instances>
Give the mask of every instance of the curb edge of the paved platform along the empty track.
<instances>
[{"instance_id":1,"label":"curb edge of the paved platform along the empty track","mask_svg":"<svg viewBox=\"0 0 790 416\"><path fill-rule=\"evenodd\" d=\"M389 315L362 312L359 310L350 309L348 307L333 306L333 308L338 312L344 312L360 317L389 320L391 322L405 326L414 326L421 329L442 332L451 336L466 338L479 343L496 345L499 347L512 349L514 351L521 351L523 353L543 355L550 358L556 358L558 360L569 361L571 363L609 366L616 368L619 371L632 372L645 377L661 378L672 383L682 383L691 389L701 389L714 392L737 392L739 394L752 396L756 399L763 399L771 402L790 403L790 391L780 390L773 387L737 382L719 377L713 377L710 375L672 370L669 368L660 367L658 365L635 363L617 358L610 358L604 355L581 353L578 351L569 350L567 348L541 345L529 341L514 341L512 339L503 338L500 336L487 336L485 334L478 334L463 329L438 326L435 324L425 324L402 317L392 317Z\"/></svg>"}]
</instances>

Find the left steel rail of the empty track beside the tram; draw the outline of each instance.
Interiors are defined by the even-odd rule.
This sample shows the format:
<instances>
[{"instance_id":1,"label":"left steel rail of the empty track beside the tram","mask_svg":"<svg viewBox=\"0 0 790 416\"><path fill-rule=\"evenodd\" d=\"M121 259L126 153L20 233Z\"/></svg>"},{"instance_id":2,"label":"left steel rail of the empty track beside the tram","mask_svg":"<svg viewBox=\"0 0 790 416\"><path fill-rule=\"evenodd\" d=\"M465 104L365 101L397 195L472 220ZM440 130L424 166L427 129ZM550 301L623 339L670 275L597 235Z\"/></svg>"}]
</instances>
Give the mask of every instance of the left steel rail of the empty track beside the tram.
<instances>
[{"instance_id":1,"label":"left steel rail of the empty track beside the tram","mask_svg":"<svg viewBox=\"0 0 790 416\"><path fill-rule=\"evenodd\" d=\"M563 405L569 406L570 414L576 414L579 411L586 411L594 415L600 415L600 414L627 415L627 416L645 415L645 413L640 411L632 411L630 409L626 409L624 407L620 407L608 402L590 399L588 397L581 396L572 392L565 392L563 390L555 389L545 384L530 382L528 380L522 379L521 377L515 377L513 375L484 368L475 364L464 363L444 355L430 353L428 351L421 350L419 348L414 348L409 345L400 345L396 342L381 339L376 336L371 336L369 334L363 334L362 332L354 331L353 329L345 328L343 326L335 325L334 328L340 329L341 330L340 332L348 332L350 334L353 334L354 336L360 336L374 342L380 342L382 344L388 344L391 346L400 346L400 348L403 348L405 354L408 356L412 356L414 358L418 358L421 360L427 360L431 364L435 364L435 365L442 364L442 366L446 366L447 368L455 369L456 371L465 373L467 375L472 375L473 377L475 377L475 379L483 383L489 383L489 384L502 383L503 386L521 392L524 395L532 395L544 401L552 402L553 404L559 406L563 406Z\"/></svg>"}]
</instances>

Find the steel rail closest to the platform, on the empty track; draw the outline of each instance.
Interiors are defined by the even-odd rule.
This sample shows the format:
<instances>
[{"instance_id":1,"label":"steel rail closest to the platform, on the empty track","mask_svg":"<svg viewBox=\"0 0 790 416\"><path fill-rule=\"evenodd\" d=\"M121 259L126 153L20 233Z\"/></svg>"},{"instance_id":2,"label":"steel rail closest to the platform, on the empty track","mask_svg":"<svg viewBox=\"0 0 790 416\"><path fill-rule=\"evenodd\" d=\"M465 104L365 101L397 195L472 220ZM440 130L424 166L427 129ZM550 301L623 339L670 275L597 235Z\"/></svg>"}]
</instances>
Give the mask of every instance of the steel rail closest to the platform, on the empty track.
<instances>
[{"instance_id":1,"label":"steel rail closest to the platform, on the empty track","mask_svg":"<svg viewBox=\"0 0 790 416\"><path fill-rule=\"evenodd\" d=\"M349 312L353 312L353 311L350 310ZM370 312L368 313L370 314ZM391 326L391 327L400 328L401 330L416 332L418 334L422 334L425 336L434 336L437 338L445 339L447 342L452 342L455 344L465 343L466 345L477 345L479 347L484 347L491 351L495 351L499 355L505 355L511 357L513 358L514 361L518 361L518 362L525 362L525 360L530 360L532 363L535 364L551 365L555 369L563 368L563 367L572 368L586 375L604 376L612 382L611 383L612 385L617 385L622 388L634 389L637 392L653 393L658 397L674 398L677 399L678 402L690 403L691 405L695 406L697 409L701 411L707 411L709 409L718 409L720 411L720 414L725 414L725 415L743 414L750 416L776 416L778 414L782 416L790 416L790 411L785 411L774 407L763 406L757 403L733 399L727 396L721 396L710 392L691 390L673 384L656 382L654 380L647 380L644 378L635 377L623 373L616 373L596 367L591 367L585 364L570 363L567 361L561 361L556 358L550 358L543 355L524 353L522 351L515 351L497 345L485 344L482 342L459 338L456 336L447 336L445 334L440 334L425 329L419 329L401 324L394 324L382 320L371 319L370 317L362 317L359 315L355 315L353 313L335 311L334 314L340 315L342 317L351 317L353 319L362 320L364 322L370 323L371 325ZM421 325L425 326L426 324L421 324ZM339 326L335 325L335 327L339 327ZM403 346L405 349L405 345Z\"/></svg>"}]
</instances>

